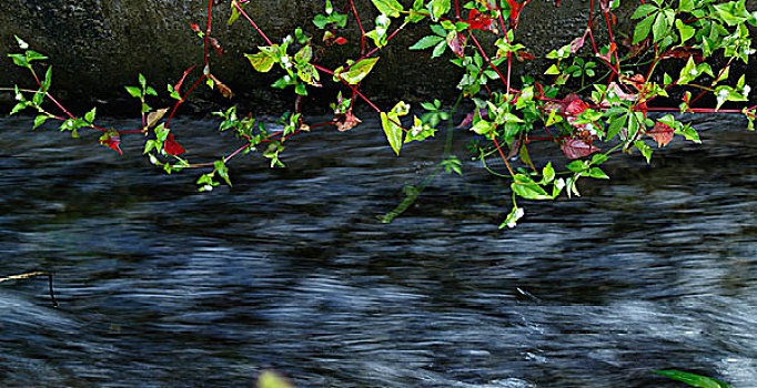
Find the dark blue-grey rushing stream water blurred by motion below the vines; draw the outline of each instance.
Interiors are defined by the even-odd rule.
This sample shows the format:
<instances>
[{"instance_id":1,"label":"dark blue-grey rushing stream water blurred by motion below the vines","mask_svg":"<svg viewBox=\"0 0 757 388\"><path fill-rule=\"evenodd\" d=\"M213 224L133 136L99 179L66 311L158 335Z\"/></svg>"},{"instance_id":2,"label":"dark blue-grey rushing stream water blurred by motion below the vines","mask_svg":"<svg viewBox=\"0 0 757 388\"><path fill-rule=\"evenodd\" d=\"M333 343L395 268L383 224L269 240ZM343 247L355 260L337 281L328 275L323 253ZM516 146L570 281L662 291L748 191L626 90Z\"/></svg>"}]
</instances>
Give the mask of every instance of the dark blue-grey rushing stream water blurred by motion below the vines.
<instances>
[{"instance_id":1,"label":"dark blue-grey rushing stream water blurred by motion below the vines","mask_svg":"<svg viewBox=\"0 0 757 388\"><path fill-rule=\"evenodd\" d=\"M173 126L233 150L213 125ZM683 387L650 374L667 368L757 386L757 139L738 119L652 166L615 159L581 198L523 202L504 232L507 184L473 162L378 223L442 142L397 159L376 123L299 136L286 170L235 160L210 194L137 136L120 156L0 129L0 277L52 270L60 303L0 284L0 387L250 387L264 368L299 387Z\"/></svg>"}]
</instances>

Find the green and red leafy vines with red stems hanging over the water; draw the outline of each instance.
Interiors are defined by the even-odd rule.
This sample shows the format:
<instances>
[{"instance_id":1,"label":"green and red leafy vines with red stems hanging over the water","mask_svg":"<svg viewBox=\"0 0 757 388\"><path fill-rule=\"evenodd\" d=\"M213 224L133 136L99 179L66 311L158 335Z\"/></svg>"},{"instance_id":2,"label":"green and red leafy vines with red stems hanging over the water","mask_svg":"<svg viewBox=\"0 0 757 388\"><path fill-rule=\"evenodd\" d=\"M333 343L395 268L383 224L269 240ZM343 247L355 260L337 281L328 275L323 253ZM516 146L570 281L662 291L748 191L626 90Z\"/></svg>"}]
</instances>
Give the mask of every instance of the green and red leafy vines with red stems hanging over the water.
<instances>
[{"instance_id":1,"label":"green and red leafy vines with red stems hanging over the water","mask_svg":"<svg viewBox=\"0 0 757 388\"><path fill-rule=\"evenodd\" d=\"M674 141L675 135L698 143L696 130L674 113L740 113L748 120L748 129L754 130L757 105L744 105L750 86L744 74L731 74L733 64L748 63L755 53L746 24L757 25L757 12L750 13L745 0L640 1L630 16L636 24L627 39L618 39L616 31L619 1L592 0L583 33L544 53L548 64L542 74L519 78L513 73L513 61L535 59L528 51L529 42L518 33L521 16L528 11L531 0L414 0L412 6L396 0L371 2L377 17L361 20L352 0L340 3L326 0L323 13L314 16L312 24L302 25L275 42L246 12L245 8L254 4L244 0L228 3L228 24L244 20L265 42L251 47L245 54L251 70L279 74L271 86L292 88L297 100L293 112L283 112L275 130L266 129L252 114L238 112L236 106L214 113L221 120L219 130L232 131L241 142L236 150L216 161L192 163L183 157L180 129L171 125L178 109L200 84L224 98L234 96L212 72L211 52L216 57L225 53L212 35L211 16L218 7L212 0L208 2L204 28L189 24L203 42L204 62L189 67L175 84L166 85L168 95L175 100L173 106L148 105L148 96L159 93L142 74L138 85L125 88L139 100L142 127L98 126L95 109L83 116L70 113L50 93L52 68L47 68L44 78L38 76L36 69L47 58L19 38L21 52L9 57L31 72L39 89L13 88L18 102L11 114L34 110L38 115L33 127L52 119L60 122L61 131L73 136L80 130L100 131L100 144L119 153L125 134L141 133L143 154L152 164L166 173L202 169L205 172L196 181L199 190L211 191L222 183L231 186L229 164L242 153L259 151L272 167L284 166L281 156L292 136L320 127L355 130L361 119L353 113L354 106L364 103L375 111L387 145L397 155L404 144L434 139L440 125L446 125L443 157L431 177L442 172L462 174L460 159L451 154L452 135L455 127L470 129L476 136L470 146L474 157L495 176L509 181L511 211L505 212L501 227L515 227L524 216L524 207L518 205L521 198L546 201L563 193L577 196L579 180L609 178L602 165L615 154L638 154L649 163L653 153ZM595 23L597 19L604 21L603 27L595 27L603 24ZM424 24L421 28L428 31L408 50L428 52L430 61L450 61L460 68L460 82L451 85L460 91L454 103L438 99L422 102L424 112L414 114L412 106L401 99L380 108L361 92L361 83L382 65L382 48L393 44L393 39L408 24ZM347 25L356 25L361 32L360 42L354 42L360 54L345 58L342 65L333 69L319 64L322 55L316 52L351 43L342 34ZM607 39L599 41L597 29L606 29L603 35ZM482 41L493 43L484 45ZM717 69L711 64L716 57L725 59ZM669 69L674 68L679 70L672 72ZM335 90L331 103L333 120L309 123L302 116L302 96L325 84ZM699 105L707 95L714 98L714 106ZM676 99L679 102L675 106L665 106ZM665 102L658 103L660 100ZM470 104L462 104L464 101ZM726 103L729 109L723 109ZM453 114L464 105L473 109L463 112L465 119L455 126ZM537 160L529 149L534 142L553 143L569 163ZM487 161L492 157L502 160L503 171L489 167ZM562 165L565 166L558 167ZM406 187L406 200L381 219L391 222L406 210L428 182L430 178Z\"/></svg>"}]
</instances>

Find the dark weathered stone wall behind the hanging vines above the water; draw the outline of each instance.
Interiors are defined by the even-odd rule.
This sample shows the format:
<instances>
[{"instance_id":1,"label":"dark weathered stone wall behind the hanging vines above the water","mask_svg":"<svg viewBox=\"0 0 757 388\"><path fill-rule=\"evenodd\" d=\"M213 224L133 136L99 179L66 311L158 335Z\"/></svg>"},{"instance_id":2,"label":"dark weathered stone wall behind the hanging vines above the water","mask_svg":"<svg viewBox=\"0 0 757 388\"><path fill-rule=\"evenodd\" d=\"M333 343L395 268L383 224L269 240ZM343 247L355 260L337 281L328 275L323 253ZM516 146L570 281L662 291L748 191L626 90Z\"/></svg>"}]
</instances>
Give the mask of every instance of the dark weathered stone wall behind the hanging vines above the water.
<instances>
[{"instance_id":1,"label":"dark weathered stone wall behind the hanging vines above the water","mask_svg":"<svg viewBox=\"0 0 757 388\"><path fill-rule=\"evenodd\" d=\"M336 7L346 3L334 1ZM750 3L755 6L757 0ZM311 20L323 12L323 0L256 0L246 10L272 40L281 41L299 25L320 38L321 32ZM355 0L355 6L366 29L372 27L375 11L371 1ZM625 1L616 12L618 35L627 33L629 10L635 6ZM522 14L518 38L528 52L544 55L582 34L588 7L587 0L563 0L559 8L553 1L533 1ZM291 91L269 88L281 74L260 74L243 57L256 52L256 45L264 44L264 40L245 20L226 25L231 13L228 1L219 1L213 12L212 35L228 52L221 58L213 55L212 72L233 89L235 102L258 106L260 112L289 106ZM23 38L50 57L54 73L52 92L59 100L82 108L98 104L118 112L123 106L134 106L122 86L135 84L138 73L163 92L164 85L175 83L185 69L202 63L202 40L189 24L204 25L206 13L205 0L8 0L0 2L0 50L17 51L13 34ZM357 28L351 22L343 32L351 44L330 50L320 62L324 67L334 68L344 59L360 57ZM362 89L366 95L387 104L398 99L455 98L461 76L457 68L446 59L428 61L428 51L406 50L427 33L425 23L410 25L381 50L381 60ZM516 70L541 73L543 65L538 61L516 63ZM0 61L0 85L14 83L32 85L26 70L13 67L9 59ZM193 100L196 102L186 105L189 110L203 110L206 102L221 100L208 88L200 89ZM311 100L325 105L333 100L334 84L326 80L323 90L313 94ZM10 95L4 93L2 99L8 103Z\"/></svg>"}]
</instances>

